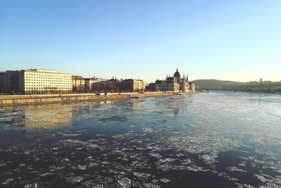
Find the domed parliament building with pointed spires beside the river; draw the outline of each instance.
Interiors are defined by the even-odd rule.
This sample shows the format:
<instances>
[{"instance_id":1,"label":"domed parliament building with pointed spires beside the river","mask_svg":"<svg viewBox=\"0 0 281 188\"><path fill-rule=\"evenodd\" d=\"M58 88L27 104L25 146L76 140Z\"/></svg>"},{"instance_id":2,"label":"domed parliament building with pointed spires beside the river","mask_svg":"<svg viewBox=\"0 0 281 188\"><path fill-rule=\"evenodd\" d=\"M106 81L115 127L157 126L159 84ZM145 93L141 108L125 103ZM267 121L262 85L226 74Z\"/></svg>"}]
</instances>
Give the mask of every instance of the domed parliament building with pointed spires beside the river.
<instances>
[{"instance_id":1,"label":"domed parliament building with pointed spires beside the river","mask_svg":"<svg viewBox=\"0 0 281 188\"><path fill-rule=\"evenodd\" d=\"M185 75L183 75L183 78L181 78L177 68L173 77L167 75L166 80L157 80L155 90L162 92L195 92L195 84L188 82L188 76L185 78Z\"/></svg>"}]
</instances>

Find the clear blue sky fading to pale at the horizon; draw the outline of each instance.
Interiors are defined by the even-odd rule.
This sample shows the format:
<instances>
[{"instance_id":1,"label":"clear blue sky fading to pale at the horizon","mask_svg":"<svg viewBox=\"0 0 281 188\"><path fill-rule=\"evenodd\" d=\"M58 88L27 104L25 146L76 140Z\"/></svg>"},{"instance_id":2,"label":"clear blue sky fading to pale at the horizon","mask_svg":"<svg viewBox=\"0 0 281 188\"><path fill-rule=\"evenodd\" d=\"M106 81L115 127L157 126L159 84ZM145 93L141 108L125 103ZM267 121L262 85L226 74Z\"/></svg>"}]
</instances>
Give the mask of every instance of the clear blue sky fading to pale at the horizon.
<instances>
[{"instance_id":1,"label":"clear blue sky fading to pale at the horizon","mask_svg":"<svg viewBox=\"0 0 281 188\"><path fill-rule=\"evenodd\" d=\"M0 0L0 70L281 80L281 1Z\"/></svg>"}]
</instances>

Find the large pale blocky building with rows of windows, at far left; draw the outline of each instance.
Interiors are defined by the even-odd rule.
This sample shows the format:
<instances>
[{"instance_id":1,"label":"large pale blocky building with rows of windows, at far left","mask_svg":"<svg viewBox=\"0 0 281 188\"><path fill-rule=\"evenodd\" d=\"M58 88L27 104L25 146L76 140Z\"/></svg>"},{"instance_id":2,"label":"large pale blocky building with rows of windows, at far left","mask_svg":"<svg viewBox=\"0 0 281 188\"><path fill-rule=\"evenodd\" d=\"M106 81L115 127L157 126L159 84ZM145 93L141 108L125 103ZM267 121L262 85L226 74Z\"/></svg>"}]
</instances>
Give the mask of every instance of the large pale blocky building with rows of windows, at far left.
<instances>
[{"instance_id":1,"label":"large pale blocky building with rows of windows, at far left","mask_svg":"<svg viewBox=\"0 0 281 188\"><path fill-rule=\"evenodd\" d=\"M55 70L7 70L4 87L22 94L71 92L71 75Z\"/></svg>"}]
</instances>

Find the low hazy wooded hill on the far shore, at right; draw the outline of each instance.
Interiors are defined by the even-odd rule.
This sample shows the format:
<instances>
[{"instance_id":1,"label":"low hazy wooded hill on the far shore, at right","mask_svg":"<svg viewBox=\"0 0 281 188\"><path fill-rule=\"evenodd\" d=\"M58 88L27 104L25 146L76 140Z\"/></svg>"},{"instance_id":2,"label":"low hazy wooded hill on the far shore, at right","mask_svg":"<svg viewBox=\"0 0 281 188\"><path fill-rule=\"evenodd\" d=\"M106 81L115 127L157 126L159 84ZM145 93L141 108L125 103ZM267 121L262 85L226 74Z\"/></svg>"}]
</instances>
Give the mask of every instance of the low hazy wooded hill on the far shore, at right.
<instances>
[{"instance_id":1,"label":"low hazy wooded hill on the far shore, at right","mask_svg":"<svg viewBox=\"0 0 281 188\"><path fill-rule=\"evenodd\" d=\"M270 92L280 93L281 82L234 82L226 80L194 80L197 89L229 90L241 92Z\"/></svg>"}]
</instances>

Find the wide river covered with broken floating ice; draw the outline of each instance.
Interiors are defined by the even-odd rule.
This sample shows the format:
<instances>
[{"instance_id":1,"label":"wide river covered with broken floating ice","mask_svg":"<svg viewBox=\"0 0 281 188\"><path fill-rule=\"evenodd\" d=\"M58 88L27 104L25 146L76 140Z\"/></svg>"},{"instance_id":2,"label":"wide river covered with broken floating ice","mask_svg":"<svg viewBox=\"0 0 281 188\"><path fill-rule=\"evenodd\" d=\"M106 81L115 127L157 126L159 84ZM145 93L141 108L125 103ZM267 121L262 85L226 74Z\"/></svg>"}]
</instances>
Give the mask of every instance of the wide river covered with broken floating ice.
<instances>
[{"instance_id":1,"label":"wide river covered with broken floating ice","mask_svg":"<svg viewBox=\"0 0 281 188\"><path fill-rule=\"evenodd\" d=\"M0 109L0 187L281 187L281 95Z\"/></svg>"}]
</instances>

